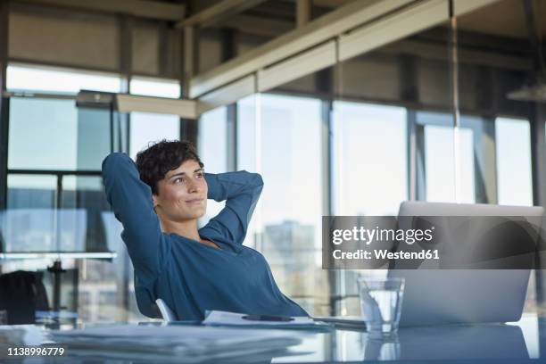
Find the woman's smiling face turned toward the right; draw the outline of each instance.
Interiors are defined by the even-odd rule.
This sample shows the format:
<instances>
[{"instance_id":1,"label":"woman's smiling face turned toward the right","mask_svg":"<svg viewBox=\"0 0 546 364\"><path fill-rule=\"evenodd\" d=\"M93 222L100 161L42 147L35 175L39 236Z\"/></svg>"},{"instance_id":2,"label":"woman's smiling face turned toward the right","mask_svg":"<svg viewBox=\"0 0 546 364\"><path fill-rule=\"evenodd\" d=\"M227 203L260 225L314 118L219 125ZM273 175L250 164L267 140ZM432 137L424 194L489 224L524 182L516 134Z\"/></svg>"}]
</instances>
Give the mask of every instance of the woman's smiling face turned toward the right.
<instances>
[{"instance_id":1,"label":"woman's smiling face turned toward the right","mask_svg":"<svg viewBox=\"0 0 546 364\"><path fill-rule=\"evenodd\" d=\"M157 184L153 207L163 219L183 222L201 218L207 209L207 182L203 169L194 160L170 170Z\"/></svg>"}]
</instances>

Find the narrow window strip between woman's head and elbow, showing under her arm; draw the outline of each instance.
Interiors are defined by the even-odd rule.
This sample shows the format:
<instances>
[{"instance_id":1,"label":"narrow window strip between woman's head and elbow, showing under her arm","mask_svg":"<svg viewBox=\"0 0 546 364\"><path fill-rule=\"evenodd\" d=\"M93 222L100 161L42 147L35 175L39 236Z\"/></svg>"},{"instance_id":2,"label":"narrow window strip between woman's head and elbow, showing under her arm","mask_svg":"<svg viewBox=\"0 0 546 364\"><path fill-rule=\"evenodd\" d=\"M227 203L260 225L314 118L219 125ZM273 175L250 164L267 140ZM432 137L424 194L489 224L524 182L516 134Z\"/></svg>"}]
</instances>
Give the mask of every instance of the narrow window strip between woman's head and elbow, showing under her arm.
<instances>
[{"instance_id":1,"label":"narrow window strip between woman's head and elbow, showing under her arm","mask_svg":"<svg viewBox=\"0 0 546 364\"><path fill-rule=\"evenodd\" d=\"M208 173L227 171L227 113L226 107L205 112L199 119L197 141L199 157ZM207 212L200 224L205 225L225 206L225 202L207 201Z\"/></svg>"}]
</instances>

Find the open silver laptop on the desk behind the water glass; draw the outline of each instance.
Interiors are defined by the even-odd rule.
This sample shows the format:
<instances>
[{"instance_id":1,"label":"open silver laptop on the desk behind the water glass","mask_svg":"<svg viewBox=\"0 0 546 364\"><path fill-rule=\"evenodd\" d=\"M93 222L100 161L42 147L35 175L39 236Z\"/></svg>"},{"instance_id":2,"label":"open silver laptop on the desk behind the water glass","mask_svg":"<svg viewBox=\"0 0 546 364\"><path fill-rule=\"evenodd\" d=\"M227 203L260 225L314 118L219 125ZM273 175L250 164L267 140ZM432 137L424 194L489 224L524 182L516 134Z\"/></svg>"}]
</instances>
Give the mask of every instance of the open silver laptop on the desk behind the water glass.
<instances>
[{"instance_id":1,"label":"open silver laptop on the desk behind the water glass","mask_svg":"<svg viewBox=\"0 0 546 364\"><path fill-rule=\"evenodd\" d=\"M538 222L538 230L542 214L542 207L419 202L401 203L399 211L399 216L529 217ZM406 279L401 327L517 321L523 311L529 276L530 269L389 269L388 272L388 277Z\"/></svg>"}]
</instances>

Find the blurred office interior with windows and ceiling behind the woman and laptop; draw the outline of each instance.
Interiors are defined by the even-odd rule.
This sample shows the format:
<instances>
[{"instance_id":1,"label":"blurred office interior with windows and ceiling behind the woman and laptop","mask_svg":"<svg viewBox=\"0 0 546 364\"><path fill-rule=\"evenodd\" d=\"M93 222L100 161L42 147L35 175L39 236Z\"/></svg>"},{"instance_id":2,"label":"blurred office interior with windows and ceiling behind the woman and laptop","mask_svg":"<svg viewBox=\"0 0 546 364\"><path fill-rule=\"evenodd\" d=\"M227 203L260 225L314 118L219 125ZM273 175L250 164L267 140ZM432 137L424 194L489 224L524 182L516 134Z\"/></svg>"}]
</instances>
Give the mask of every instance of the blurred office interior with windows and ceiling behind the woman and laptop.
<instances>
[{"instance_id":1,"label":"blurred office interior with windows and ceiling behind the woman and laptop","mask_svg":"<svg viewBox=\"0 0 546 364\"><path fill-rule=\"evenodd\" d=\"M359 313L362 272L321 269L323 215L546 202L542 0L0 6L0 269L41 272L52 310L145 319L100 170L161 138L261 173L244 244L313 315Z\"/></svg>"}]
</instances>

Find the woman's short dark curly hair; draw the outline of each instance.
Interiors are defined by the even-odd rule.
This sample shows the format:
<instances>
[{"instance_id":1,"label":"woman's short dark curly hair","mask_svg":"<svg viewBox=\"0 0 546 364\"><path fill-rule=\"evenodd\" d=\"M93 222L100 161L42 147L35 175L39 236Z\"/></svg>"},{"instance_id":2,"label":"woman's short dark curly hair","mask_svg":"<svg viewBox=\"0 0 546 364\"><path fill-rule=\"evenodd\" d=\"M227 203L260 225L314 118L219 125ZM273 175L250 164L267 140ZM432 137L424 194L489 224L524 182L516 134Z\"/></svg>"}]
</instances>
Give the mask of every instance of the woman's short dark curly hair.
<instances>
[{"instance_id":1,"label":"woman's short dark curly hair","mask_svg":"<svg viewBox=\"0 0 546 364\"><path fill-rule=\"evenodd\" d=\"M136 154L136 168L140 179L152 188L153 194L158 194L157 183L165 178L167 172L190 160L197 161L203 168L203 162L191 142L163 139Z\"/></svg>"}]
</instances>

